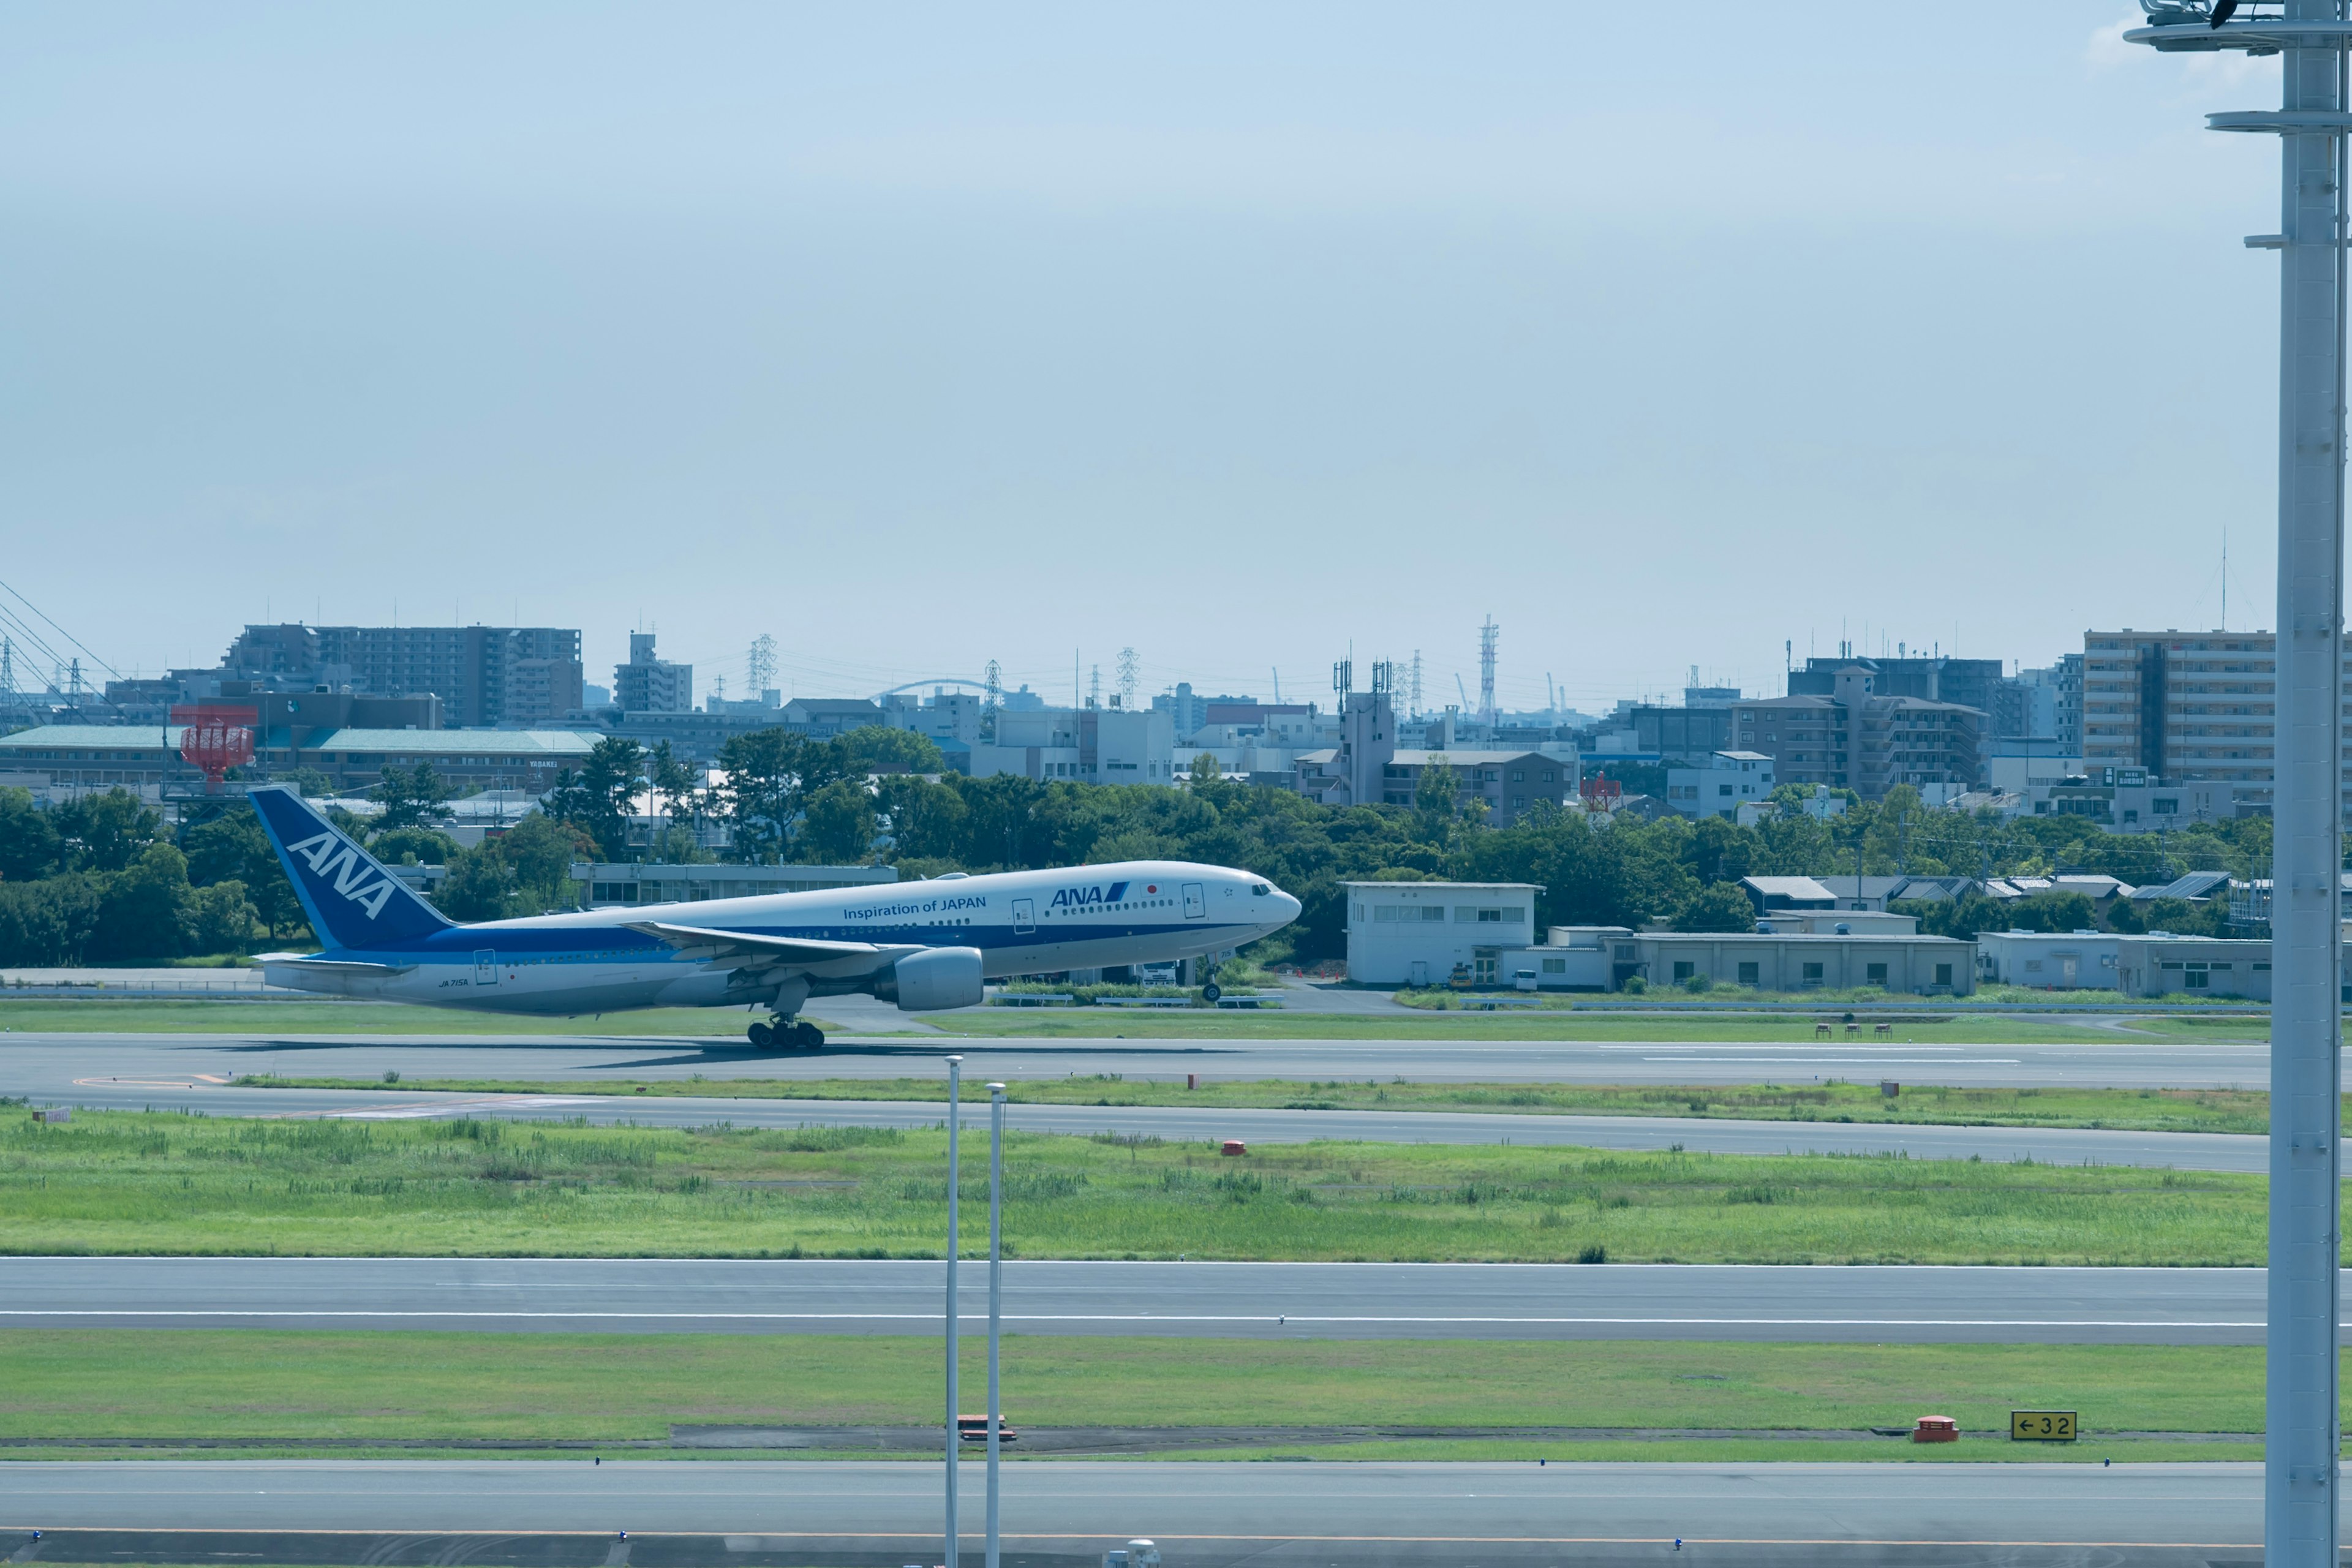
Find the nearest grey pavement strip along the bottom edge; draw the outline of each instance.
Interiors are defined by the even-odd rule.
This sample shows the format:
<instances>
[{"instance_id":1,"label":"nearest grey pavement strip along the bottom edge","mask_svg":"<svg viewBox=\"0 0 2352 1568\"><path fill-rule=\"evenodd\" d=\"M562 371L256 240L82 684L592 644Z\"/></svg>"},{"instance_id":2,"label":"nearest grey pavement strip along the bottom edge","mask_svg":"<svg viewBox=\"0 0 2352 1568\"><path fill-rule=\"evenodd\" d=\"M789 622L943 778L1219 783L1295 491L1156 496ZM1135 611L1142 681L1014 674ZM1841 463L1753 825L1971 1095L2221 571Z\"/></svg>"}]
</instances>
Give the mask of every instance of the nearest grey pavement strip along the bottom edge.
<instances>
[{"instance_id":1,"label":"nearest grey pavement strip along the bottom edge","mask_svg":"<svg viewBox=\"0 0 2352 1568\"><path fill-rule=\"evenodd\" d=\"M981 1467L967 1465L964 1552ZM1004 1467L1009 1549L1098 1561L1131 1535L1169 1568L1225 1563L2114 1561L2131 1547L2256 1552L2256 1465L1232 1465ZM419 1537L576 1533L527 1561L936 1561L941 1474L896 1462L172 1462L0 1465L0 1521L103 1530L367 1530L395 1537L306 1561L517 1561ZM628 1530L633 1552L616 1540ZM696 1533L710 1556L666 1547ZM393 1547L407 1544L409 1552ZM9 1542L0 1542L5 1549ZM193 1542L191 1542L193 1544ZM209 1561L183 1547L160 1561ZM1959 1549L1959 1554L1955 1554ZM1973 1549L1973 1552L1971 1552ZM915 1556L915 1554L922 1556ZM1009 1552L1009 1556L1011 1556ZM2089 1552L2089 1556L2086 1556ZM887 1554L887 1556L884 1556ZM1035 1556L1033 1556L1035 1554ZM275 1559L287 1561L287 1559ZM2159 1556L2133 1561L2204 1561Z\"/></svg>"}]
</instances>

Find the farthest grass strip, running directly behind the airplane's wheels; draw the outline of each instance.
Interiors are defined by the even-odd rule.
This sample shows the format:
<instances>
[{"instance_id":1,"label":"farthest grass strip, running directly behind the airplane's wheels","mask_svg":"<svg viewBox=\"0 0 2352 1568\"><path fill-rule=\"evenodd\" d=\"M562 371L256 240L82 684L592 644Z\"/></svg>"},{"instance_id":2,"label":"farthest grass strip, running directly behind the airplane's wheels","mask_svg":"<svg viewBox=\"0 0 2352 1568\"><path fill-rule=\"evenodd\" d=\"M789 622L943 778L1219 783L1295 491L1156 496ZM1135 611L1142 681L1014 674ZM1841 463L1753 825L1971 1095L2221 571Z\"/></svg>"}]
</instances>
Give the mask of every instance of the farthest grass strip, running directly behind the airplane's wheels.
<instances>
[{"instance_id":1,"label":"farthest grass strip, running directly behind the airplane's wheels","mask_svg":"<svg viewBox=\"0 0 2352 1568\"><path fill-rule=\"evenodd\" d=\"M826 1020L823 1001L809 1018L830 1034L849 1030ZM1839 1006L1820 1009L1837 1016ZM1907 1044L2067 1044L2131 1039L2249 1039L2270 1037L2258 1016L2117 1016L2107 1020L2056 1023L2034 1016L1945 1016L1945 1023L1896 1023L1893 1039ZM0 1030L52 1034L252 1034L303 1039L332 1034L593 1034L739 1041L750 1013L741 1009L647 1009L602 1018L527 1018L466 1013L381 1001L148 1001L148 999L0 999ZM908 1016L906 1030L922 1039L1677 1039L1677 1041L1811 1041L1813 1016L1623 1016L1585 1011L1541 1013L1242 1013L1242 1011L1145 1011L1145 1009L974 1009L964 1013ZM1872 1023L1858 1016L1863 1039ZM1839 1039L1844 1025L1839 1025Z\"/></svg>"}]
</instances>

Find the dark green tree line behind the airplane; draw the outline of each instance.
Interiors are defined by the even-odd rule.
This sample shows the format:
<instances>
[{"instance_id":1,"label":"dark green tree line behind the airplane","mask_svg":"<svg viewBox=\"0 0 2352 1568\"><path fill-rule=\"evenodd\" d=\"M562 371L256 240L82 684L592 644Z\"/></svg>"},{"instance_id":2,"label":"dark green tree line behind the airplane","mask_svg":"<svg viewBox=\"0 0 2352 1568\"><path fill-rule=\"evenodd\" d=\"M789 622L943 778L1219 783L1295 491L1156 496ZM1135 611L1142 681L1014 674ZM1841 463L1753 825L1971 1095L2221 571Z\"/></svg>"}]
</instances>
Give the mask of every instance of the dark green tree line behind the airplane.
<instances>
[{"instance_id":1,"label":"dark green tree line behind the airplane","mask_svg":"<svg viewBox=\"0 0 2352 1568\"><path fill-rule=\"evenodd\" d=\"M1244 785L1197 762L1188 785L1096 785L946 769L917 733L856 729L811 741L783 729L734 736L715 766L666 745L604 738L546 809L461 846L447 832L454 790L430 766L386 769L381 813L334 813L386 863L442 865L433 898L452 919L576 907L576 860L713 860L896 865L901 877L1030 870L1105 860L1235 865L1301 898L1303 917L1263 957L1312 964L1345 954L1345 882L1529 882L1536 922L1743 931L1750 875L2058 875L2105 872L2131 884L2190 870L2267 875L2270 820L2241 818L2169 835L2110 835L2072 816L2002 820L1926 806L1910 788L1884 802L1846 797L1828 820L1799 811L1752 827L1724 818L1656 823L1538 804L1491 827L1446 766L1423 771L1411 806L1322 806L1294 790ZM647 811L652 806L652 811ZM724 825L724 835L699 832ZM706 849L703 839L724 839ZM2159 900L2161 905L2164 900ZM2074 896L1990 900L1964 893L1912 907L1922 929L1973 936L2016 926L2074 931L2096 914ZM2223 931L2211 905L2110 910L2114 929ZM0 790L0 961L162 959L306 943L292 884L242 804L165 830L115 790L40 806Z\"/></svg>"}]
</instances>

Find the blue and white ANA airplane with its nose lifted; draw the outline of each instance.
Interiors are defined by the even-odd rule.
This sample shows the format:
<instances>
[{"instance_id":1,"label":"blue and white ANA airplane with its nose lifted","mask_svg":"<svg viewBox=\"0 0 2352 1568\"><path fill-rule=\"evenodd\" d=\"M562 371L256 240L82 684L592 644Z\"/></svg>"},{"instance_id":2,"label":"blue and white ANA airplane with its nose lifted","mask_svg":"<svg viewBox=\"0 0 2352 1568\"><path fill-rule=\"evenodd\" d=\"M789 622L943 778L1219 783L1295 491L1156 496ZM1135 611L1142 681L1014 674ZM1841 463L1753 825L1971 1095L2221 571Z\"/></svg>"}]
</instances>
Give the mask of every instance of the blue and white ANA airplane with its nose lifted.
<instances>
[{"instance_id":1,"label":"blue and white ANA airplane with its nose lifted","mask_svg":"<svg viewBox=\"0 0 2352 1568\"><path fill-rule=\"evenodd\" d=\"M870 994L908 1013L981 1001L983 980L1167 964L1254 943L1298 900L1251 872L1124 860L1065 872L583 910L461 926L301 795L252 790L254 813L327 947L263 954L270 985L489 1013L750 1006L755 1046L814 1051L809 997ZM1216 987L1207 987L1216 999Z\"/></svg>"}]
</instances>

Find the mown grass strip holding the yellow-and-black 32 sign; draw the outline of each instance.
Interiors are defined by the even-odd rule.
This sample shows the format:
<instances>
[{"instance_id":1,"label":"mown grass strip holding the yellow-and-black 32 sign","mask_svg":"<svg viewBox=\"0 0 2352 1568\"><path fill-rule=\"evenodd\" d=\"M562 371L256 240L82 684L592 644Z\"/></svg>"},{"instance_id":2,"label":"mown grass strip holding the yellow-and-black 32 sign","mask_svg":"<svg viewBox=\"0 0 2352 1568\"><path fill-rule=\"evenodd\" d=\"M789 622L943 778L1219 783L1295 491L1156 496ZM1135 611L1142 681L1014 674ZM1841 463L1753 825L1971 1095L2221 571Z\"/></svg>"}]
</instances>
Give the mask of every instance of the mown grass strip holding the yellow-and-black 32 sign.
<instances>
[{"instance_id":1,"label":"mown grass strip holding the yellow-and-black 32 sign","mask_svg":"<svg viewBox=\"0 0 2352 1568\"><path fill-rule=\"evenodd\" d=\"M983 1349L964 1340L964 1387ZM670 1425L927 1425L929 1340L863 1335L482 1335L0 1331L0 1436L661 1441ZM2161 1345L1693 1345L1479 1340L1004 1340L1016 1427L1637 1427L1865 1432L2011 1408L2079 1410L2074 1448L1976 1439L1444 1439L1294 1446L1312 1458L2246 1458L2241 1446L2105 1434L2263 1427L2263 1352ZM1802 1455L1797 1450L1804 1450ZM5 1448L0 1453L26 1453ZM47 1450L66 1453L66 1450ZM755 1458L779 1458L776 1450ZM873 1458L873 1455L866 1455ZM1214 1455L1200 1455L1214 1458Z\"/></svg>"}]
</instances>

